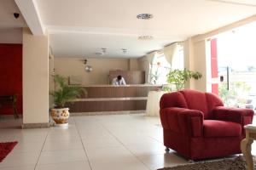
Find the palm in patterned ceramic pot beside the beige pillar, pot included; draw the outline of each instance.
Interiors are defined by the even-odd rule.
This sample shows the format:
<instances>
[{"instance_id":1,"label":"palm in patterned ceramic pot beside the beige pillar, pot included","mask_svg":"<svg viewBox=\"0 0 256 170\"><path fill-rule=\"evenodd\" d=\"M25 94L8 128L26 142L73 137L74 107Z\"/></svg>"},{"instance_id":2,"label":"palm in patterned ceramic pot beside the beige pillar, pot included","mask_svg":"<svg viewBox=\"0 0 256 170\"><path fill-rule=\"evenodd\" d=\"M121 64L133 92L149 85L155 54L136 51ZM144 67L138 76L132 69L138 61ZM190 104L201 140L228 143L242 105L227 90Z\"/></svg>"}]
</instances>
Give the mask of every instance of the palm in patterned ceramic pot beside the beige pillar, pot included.
<instances>
[{"instance_id":1,"label":"palm in patterned ceramic pot beside the beige pillar, pot included","mask_svg":"<svg viewBox=\"0 0 256 170\"><path fill-rule=\"evenodd\" d=\"M55 108L51 109L50 115L57 125L67 126L69 108L65 108L65 104L79 97L82 88L78 86L69 86L66 77L61 77L60 75L55 75L53 77L56 87L55 91L52 91L49 94L54 97Z\"/></svg>"}]
</instances>

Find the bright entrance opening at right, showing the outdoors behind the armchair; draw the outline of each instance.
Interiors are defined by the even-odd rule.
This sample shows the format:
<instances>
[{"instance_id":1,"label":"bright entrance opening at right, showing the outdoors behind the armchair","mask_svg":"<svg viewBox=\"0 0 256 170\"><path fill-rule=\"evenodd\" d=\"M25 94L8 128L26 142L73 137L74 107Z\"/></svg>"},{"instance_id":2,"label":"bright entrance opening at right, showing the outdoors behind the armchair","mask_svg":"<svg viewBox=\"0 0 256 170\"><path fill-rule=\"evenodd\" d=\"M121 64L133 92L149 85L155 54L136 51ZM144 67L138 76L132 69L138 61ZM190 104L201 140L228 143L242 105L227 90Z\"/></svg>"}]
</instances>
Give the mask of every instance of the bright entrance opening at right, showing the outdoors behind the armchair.
<instances>
[{"instance_id":1,"label":"bright entrance opening at right, showing the outdoors behind the armchair","mask_svg":"<svg viewBox=\"0 0 256 170\"><path fill-rule=\"evenodd\" d=\"M212 78L218 77L217 84L212 84L212 92L218 94L227 106L254 111L256 111L255 30L256 22L253 22L218 35L211 41ZM217 70L218 75L216 75ZM216 93L217 89L218 93Z\"/></svg>"}]
</instances>

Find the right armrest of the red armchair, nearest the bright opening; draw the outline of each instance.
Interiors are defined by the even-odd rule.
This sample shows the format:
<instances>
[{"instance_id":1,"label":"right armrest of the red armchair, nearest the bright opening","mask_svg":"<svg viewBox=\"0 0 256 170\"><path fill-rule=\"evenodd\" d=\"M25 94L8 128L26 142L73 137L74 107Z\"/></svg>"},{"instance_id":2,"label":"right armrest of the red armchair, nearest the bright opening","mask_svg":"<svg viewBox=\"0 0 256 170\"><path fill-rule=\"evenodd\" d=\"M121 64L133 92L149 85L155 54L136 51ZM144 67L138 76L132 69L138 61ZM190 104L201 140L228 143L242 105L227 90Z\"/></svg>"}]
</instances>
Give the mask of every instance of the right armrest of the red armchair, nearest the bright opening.
<instances>
[{"instance_id":1,"label":"right armrest of the red armchair, nearest the bright opening","mask_svg":"<svg viewBox=\"0 0 256 170\"><path fill-rule=\"evenodd\" d=\"M251 124L253 122L253 110L240 109L240 108L228 108L219 106L212 110L213 117L216 120L237 122L241 126Z\"/></svg>"}]
</instances>

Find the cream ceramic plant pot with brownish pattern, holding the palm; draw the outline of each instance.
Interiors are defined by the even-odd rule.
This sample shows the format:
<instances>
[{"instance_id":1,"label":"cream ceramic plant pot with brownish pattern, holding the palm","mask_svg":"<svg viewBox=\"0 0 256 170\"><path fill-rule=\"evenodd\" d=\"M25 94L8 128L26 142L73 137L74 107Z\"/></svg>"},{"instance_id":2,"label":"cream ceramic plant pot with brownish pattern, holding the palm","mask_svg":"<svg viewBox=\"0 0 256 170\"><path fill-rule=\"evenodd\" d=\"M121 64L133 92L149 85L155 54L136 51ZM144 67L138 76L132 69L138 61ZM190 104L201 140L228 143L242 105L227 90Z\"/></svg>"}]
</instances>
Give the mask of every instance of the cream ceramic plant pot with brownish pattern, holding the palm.
<instances>
[{"instance_id":1,"label":"cream ceramic plant pot with brownish pattern, holding the palm","mask_svg":"<svg viewBox=\"0 0 256 170\"><path fill-rule=\"evenodd\" d=\"M51 109L50 115L56 124L67 124L69 117L69 108Z\"/></svg>"}]
</instances>

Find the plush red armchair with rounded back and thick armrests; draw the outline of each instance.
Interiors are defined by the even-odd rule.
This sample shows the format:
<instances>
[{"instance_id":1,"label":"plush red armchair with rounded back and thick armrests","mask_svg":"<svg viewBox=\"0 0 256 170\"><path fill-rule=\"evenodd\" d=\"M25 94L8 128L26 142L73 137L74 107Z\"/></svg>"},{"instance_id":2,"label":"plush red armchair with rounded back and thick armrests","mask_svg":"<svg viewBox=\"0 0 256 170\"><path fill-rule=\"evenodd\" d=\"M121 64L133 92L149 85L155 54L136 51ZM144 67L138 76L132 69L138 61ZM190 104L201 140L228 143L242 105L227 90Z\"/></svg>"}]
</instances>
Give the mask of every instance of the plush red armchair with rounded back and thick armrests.
<instances>
[{"instance_id":1,"label":"plush red armchair with rounded back and thick armrests","mask_svg":"<svg viewBox=\"0 0 256 170\"><path fill-rule=\"evenodd\" d=\"M166 149L200 160L241 153L253 110L226 108L215 94L183 90L161 97L160 120Z\"/></svg>"}]
</instances>

